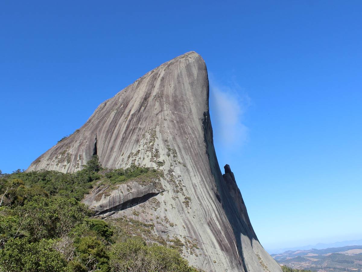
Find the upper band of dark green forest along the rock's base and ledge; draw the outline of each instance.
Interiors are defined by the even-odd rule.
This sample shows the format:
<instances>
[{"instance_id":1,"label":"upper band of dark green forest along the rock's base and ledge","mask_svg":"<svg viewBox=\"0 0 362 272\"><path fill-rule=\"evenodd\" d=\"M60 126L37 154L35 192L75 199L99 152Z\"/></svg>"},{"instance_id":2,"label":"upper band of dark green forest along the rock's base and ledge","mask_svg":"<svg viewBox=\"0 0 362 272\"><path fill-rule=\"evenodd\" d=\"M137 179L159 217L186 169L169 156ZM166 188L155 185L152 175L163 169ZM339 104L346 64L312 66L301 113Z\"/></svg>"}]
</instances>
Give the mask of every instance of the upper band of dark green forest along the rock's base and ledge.
<instances>
[{"instance_id":1,"label":"upper band of dark green forest along the rock's base and ledge","mask_svg":"<svg viewBox=\"0 0 362 272\"><path fill-rule=\"evenodd\" d=\"M12 174L0 176L0 199L4 195L1 206L24 205L36 195L44 197L64 197L81 200L89 193L96 182L102 180L104 185L114 185L134 180L140 184L157 181L161 172L153 168L143 168L131 165L127 169L107 170L102 174L102 166L98 156L94 155L83 170L76 173L61 173L57 171L15 171Z\"/></svg>"}]
</instances>

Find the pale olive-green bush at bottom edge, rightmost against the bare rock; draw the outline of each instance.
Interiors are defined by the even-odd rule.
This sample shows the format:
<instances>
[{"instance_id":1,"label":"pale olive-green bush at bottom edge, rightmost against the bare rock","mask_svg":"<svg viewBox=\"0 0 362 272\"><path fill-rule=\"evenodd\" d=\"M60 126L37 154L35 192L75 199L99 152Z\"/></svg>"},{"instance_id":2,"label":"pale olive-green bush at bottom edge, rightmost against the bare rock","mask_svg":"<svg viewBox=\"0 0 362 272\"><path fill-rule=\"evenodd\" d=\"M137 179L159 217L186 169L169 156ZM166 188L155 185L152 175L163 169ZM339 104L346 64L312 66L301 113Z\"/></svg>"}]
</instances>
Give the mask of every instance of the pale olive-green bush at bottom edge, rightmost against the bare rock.
<instances>
[{"instance_id":1,"label":"pale olive-green bush at bottom edge, rightmost against the bare rock","mask_svg":"<svg viewBox=\"0 0 362 272\"><path fill-rule=\"evenodd\" d=\"M110 252L112 272L118 271L194 271L180 253L171 248L129 239L112 247Z\"/></svg>"}]
</instances>

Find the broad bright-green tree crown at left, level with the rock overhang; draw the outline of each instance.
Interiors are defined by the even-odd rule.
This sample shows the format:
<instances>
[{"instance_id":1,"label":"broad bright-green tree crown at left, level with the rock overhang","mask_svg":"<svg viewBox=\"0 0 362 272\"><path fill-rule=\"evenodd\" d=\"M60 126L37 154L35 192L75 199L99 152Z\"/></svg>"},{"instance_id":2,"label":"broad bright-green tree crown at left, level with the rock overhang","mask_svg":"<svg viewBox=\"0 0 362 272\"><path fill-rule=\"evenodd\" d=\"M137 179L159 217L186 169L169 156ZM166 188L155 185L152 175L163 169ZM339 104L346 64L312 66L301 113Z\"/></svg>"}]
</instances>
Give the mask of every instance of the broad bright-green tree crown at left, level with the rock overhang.
<instances>
[{"instance_id":1,"label":"broad bright-green tree crown at left, level with the rock overhang","mask_svg":"<svg viewBox=\"0 0 362 272\"><path fill-rule=\"evenodd\" d=\"M10 238L27 237L31 242L67 235L91 211L76 199L34 197L24 206L0 210L0 246Z\"/></svg>"}]
</instances>

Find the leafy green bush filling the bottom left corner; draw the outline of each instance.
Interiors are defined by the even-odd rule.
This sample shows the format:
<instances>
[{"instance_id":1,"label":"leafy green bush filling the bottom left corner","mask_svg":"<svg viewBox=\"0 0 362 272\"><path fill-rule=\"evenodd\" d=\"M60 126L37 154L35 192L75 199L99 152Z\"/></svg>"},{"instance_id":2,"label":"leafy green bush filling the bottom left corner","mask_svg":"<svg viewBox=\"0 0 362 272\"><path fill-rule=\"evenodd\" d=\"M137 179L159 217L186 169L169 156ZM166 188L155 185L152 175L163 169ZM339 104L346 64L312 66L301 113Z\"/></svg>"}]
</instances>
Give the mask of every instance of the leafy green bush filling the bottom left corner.
<instances>
[{"instance_id":1,"label":"leafy green bush filling the bottom left corner","mask_svg":"<svg viewBox=\"0 0 362 272\"><path fill-rule=\"evenodd\" d=\"M28 243L10 239L0 250L1 272L70 272L64 255L52 248L52 240Z\"/></svg>"}]
</instances>

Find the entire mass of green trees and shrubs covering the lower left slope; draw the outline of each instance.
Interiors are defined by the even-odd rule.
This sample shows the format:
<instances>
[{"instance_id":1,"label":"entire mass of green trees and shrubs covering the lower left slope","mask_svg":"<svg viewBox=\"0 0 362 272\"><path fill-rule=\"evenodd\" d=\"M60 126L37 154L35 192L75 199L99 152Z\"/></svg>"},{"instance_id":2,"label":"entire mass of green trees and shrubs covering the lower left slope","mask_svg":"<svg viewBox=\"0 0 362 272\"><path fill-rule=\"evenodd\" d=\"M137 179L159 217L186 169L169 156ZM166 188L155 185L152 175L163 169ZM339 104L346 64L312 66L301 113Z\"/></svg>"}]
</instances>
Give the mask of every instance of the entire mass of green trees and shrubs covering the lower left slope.
<instances>
[{"instance_id":1,"label":"entire mass of green trees and shrubs covering the lower left slope","mask_svg":"<svg viewBox=\"0 0 362 272\"><path fill-rule=\"evenodd\" d=\"M96 219L80 202L97 181L124 182L155 171L136 166L101 171L94 157L73 174L0 174L0 271L196 271L179 250L146 243L129 231L142 222Z\"/></svg>"}]
</instances>

